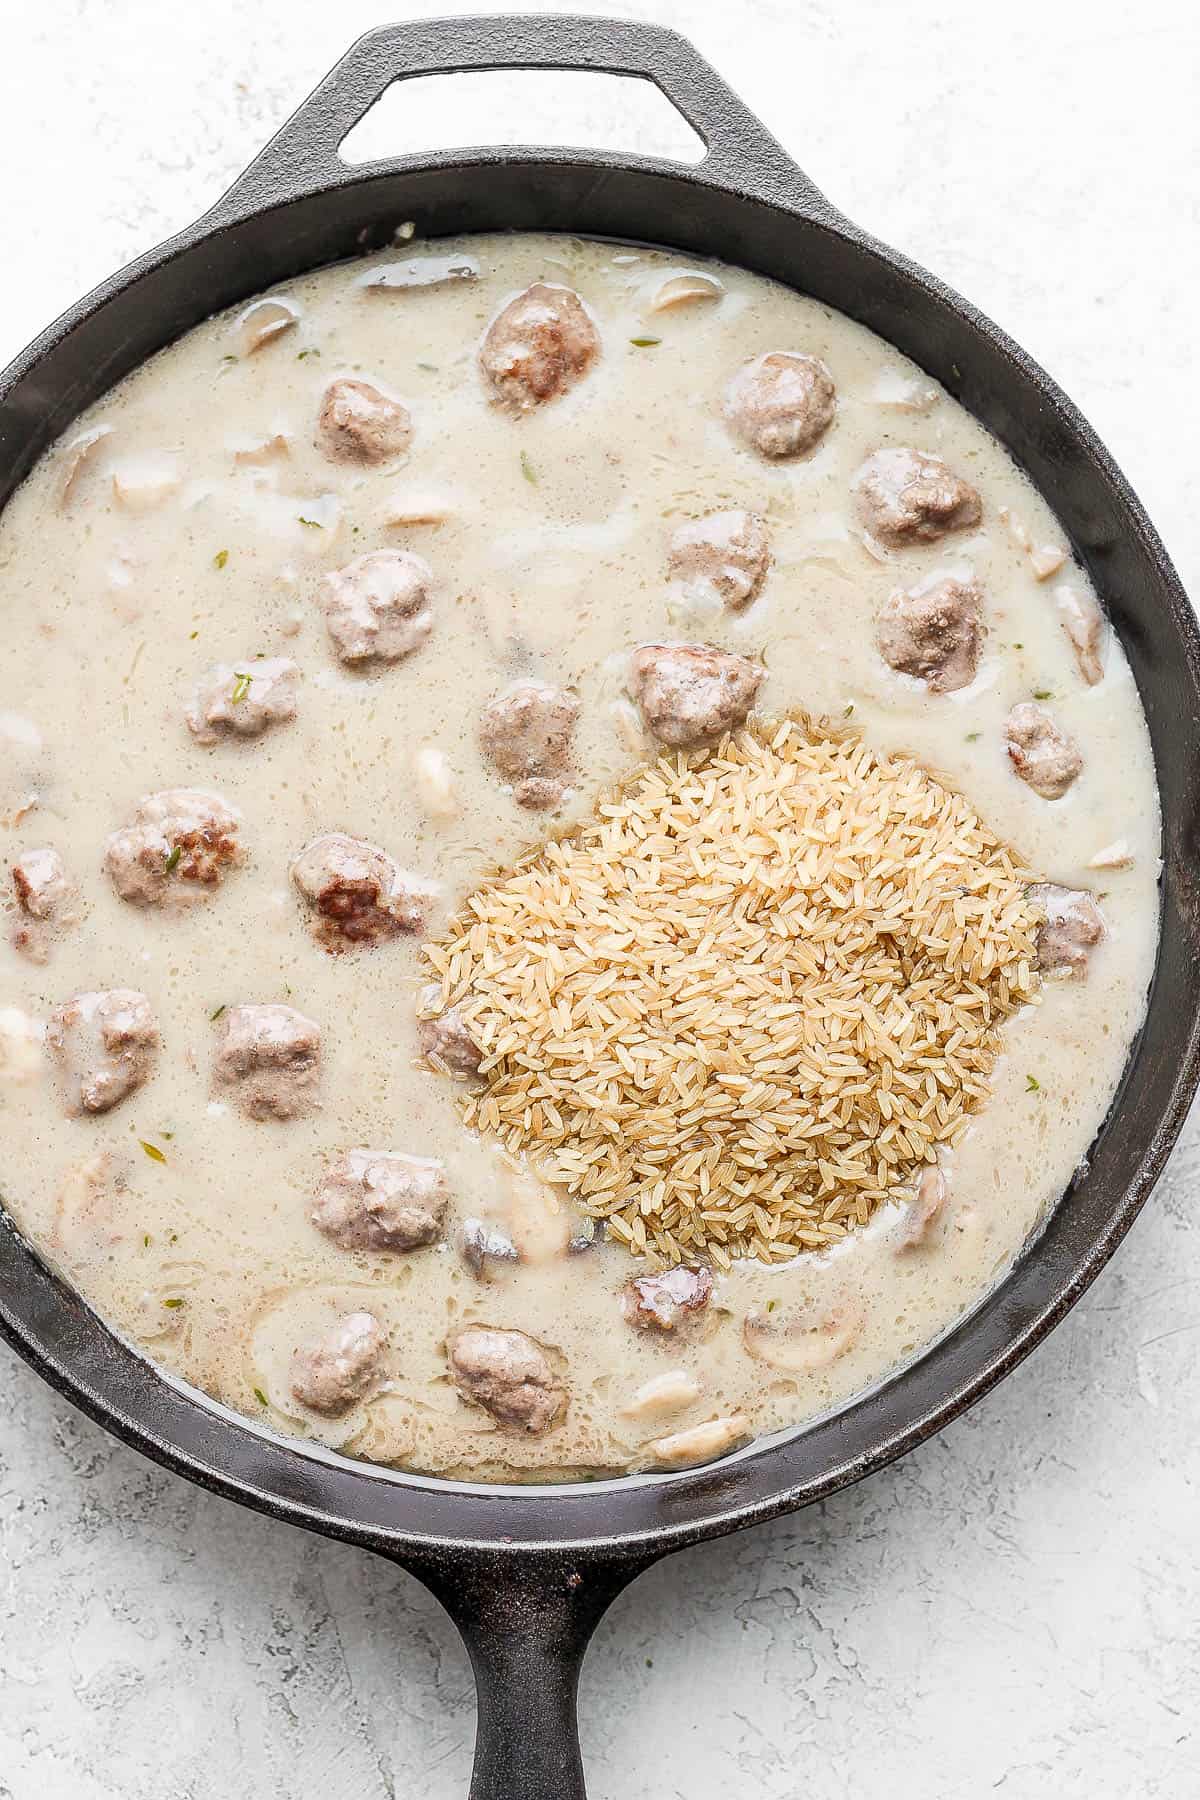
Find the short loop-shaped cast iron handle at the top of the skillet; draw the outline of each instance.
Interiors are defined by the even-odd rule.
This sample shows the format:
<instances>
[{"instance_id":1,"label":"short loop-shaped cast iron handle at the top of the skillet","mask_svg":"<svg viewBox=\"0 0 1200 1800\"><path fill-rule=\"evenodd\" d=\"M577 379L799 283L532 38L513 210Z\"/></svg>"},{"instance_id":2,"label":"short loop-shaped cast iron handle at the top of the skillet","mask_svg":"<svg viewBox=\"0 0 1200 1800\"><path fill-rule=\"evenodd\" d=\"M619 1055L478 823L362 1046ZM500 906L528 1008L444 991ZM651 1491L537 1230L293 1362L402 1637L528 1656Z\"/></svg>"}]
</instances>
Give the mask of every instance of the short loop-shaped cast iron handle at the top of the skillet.
<instances>
[{"instance_id":1,"label":"short loop-shaped cast iron handle at the top of the skillet","mask_svg":"<svg viewBox=\"0 0 1200 1800\"><path fill-rule=\"evenodd\" d=\"M707 148L696 171L700 180L738 191L752 189L792 211L835 216L766 126L743 106L687 38L640 20L560 14L405 20L365 32L237 176L214 211L245 212L362 180L372 171L403 171L407 166L437 160L495 160L495 149L477 148L443 157L392 157L351 169L338 157L345 135L394 81L468 68L576 68L653 81ZM556 149L554 160L596 164L603 157ZM649 169L678 167L651 157L621 160Z\"/></svg>"}]
</instances>

